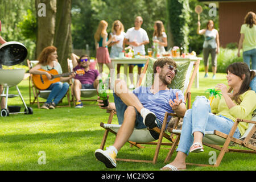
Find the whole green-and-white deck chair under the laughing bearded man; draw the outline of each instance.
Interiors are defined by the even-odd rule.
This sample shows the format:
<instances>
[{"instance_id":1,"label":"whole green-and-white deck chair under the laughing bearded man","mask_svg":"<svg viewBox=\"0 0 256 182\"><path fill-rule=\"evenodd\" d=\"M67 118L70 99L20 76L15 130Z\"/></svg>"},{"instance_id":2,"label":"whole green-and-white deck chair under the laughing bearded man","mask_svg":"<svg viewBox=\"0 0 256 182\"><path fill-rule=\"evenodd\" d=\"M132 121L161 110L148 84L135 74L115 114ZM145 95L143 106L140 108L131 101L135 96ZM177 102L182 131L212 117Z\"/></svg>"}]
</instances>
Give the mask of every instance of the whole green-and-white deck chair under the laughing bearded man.
<instances>
[{"instance_id":1,"label":"whole green-and-white deck chair under the laughing bearded man","mask_svg":"<svg viewBox=\"0 0 256 182\"><path fill-rule=\"evenodd\" d=\"M139 78L139 85L145 85L145 86L150 86L152 85L152 82L154 80L152 80L150 78L153 76L153 64L154 64L155 59L148 59L147 63L143 69L143 73L142 76ZM196 76L196 71L199 67L200 64L200 60L197 60L196 62L191 62L191 61L185 61L185 62L177 62L177 72L178 74L176 75L176 78L174 78L174 80L172 81L171 85L168 85L172 88L178 88L183 90L183 93L185 94L185 101L187 101L188 104L188 108L190 107L190 103L191 103L191 93L190 93L190 89L193 83L193 80ZM193 69L193 66L194 69ZM192 69L193 69L193 73L192 73ZM182 73L181 75L179 75L179 73ZM192 76L191 76L192 73ZM191 76L191 78L190 78ZM190 78L190 79L189 79ZM101 146L100 148L102 150L104 150L104 146L106 143L106 139L108 137L108 133L113 133L113 134L117 134L118 129L121 125L113 125L112 123L112 119L114 117L115 111L111 110L111 111L107 111L108 113L110 113L109 115L109 119L108 119L108 123L101 123L100 126L103 127L105 129L105 133L104 133L104 137L102 138L102 142L101 142ZM159 154L159 150L160 150L160 146L171 146L173 143L173 139L170 135L168 135L164 130L166 129L167 126L167 121L168 121L168 117L171 116L176 116L176 114L173 113L167 113L165 114L164 117L164 121L163 121L163 125L162 125L162 129L159 129L158 127L155 127L154 130L157 133L159 133L159 139L157 142L154 142L155 139L151 136L149 129L134 129L133 134L131 135L131 137L129 138L129 140L127 142L129 142L132 146L138 147L138 148L144 148L144 146L141 146L141 144L152 144L152 145L156 145L156 149L155 149L155 154L154 154L154 158L152 160L136 160L136 159L116 159L116 160L122 160L122 161L126 161L126 162L144 162L144 163L153 163L155 164L158 158L158 154ZM180 119L180 118L179 118ZM177 121L174 124L174 127L177 126L177 123L179 123L179 119L177 119ZM163 138L166 138L168 140L168 142L162 142Z\"/></svg>"}]
</instances>

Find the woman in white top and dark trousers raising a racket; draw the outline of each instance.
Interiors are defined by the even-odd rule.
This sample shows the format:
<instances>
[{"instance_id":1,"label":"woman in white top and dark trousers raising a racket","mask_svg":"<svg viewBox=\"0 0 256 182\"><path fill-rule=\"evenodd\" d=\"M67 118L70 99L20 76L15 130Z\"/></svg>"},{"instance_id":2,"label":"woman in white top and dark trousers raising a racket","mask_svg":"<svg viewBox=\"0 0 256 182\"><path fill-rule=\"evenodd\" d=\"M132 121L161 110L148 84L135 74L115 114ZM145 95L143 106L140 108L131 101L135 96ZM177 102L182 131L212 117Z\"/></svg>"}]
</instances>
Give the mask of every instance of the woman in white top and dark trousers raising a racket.
<instances>
[{"instance_id":1,"label":"woman in white top and dark trousers raising a racket","mask_svg":"<svg viewBox=\"0 0 256 182\"><path fill-rule=\"evenodd\" d=\"M197 34L204 35L204 44L203 44L203 55L204 55L204 70L205 78L208 77L208 57L209 54L212 56L212 72L213 79L217 71L217 53L220 51L220 40L218 36L218 31L214 28L213 20L209 20L207 23L207 28L200 30L201 23L197 22Z\"/></svg>"}]
</instances>

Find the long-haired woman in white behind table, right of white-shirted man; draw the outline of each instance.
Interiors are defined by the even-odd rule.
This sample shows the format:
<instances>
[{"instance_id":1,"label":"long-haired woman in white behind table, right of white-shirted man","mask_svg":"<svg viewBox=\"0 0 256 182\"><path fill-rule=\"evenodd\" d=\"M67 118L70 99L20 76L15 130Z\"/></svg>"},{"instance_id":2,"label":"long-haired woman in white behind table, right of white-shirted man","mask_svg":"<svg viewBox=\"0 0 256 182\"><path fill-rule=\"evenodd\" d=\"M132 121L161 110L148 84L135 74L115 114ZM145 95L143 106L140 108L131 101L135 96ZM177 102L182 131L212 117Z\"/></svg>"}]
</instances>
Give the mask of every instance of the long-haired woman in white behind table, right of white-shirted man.
<instances>
[{"instance_id":1,"label":"long-haired woman in white behind table, right of white-shirted man","mask_svg":"<svg viewBox=\"0 0 256 182\"><path fill-rule=\"evenodd\" d=\"M166 52L164 47L167 47L167 35L164 30L163 22L158 20L154 24L153 42L158 43L159 54Z\"/></svg>"}]
</instances>

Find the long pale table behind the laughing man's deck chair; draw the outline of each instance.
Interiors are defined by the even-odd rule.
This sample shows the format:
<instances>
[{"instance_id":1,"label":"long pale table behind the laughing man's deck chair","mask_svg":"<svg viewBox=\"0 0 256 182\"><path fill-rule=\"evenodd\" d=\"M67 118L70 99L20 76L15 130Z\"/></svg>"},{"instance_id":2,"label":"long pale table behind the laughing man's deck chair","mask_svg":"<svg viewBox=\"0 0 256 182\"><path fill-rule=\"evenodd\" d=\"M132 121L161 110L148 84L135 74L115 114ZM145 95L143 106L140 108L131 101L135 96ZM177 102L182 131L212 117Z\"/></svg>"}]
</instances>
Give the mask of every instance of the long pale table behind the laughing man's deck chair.
<instances>
[{"instance_id":1,"label":"long pale table behind the laughing man's deck chair","mask_svg":"<svg viewBox=\"0 0 256 182\"><path fill-rule=\"evenodd\" d=\"M201 57L196 56L189 56L189 57L170 57L174 61L197 61L202 60ZM148 57L137 57L137 58L128 58L128 57L115 57L111 59L112 64L115 68L116 64L123 64L124 67L124 73L126 75L126 78L128 78L128 64L146 64ZM196 72L196 78L195 78L195 87L199 88L199 68Z\"/></svg>"}]
</instances>

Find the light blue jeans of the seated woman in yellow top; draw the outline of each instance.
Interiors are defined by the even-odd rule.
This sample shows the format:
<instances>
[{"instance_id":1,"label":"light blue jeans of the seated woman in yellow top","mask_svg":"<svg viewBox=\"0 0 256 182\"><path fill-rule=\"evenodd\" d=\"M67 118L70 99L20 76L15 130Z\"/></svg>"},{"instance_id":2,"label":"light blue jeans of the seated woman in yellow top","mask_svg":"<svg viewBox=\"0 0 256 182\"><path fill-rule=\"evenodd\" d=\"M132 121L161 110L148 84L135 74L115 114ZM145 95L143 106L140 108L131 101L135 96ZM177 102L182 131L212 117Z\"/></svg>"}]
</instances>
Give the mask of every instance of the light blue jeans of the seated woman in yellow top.
<instances>
[{"instance_id":1,"label":"light blue jeans of the seated woman in yellow top","mask_svg":"<svg viewBox=\"0 0 256 182\"><path fill-rule=\"evenodd\" d=\"M218 130L222 133L229 134L233 125L234 122L232 119L211 113L210 101L206 97L197 96L192 109L187 110L184 115L177 151L181 151L188 155L189 148L193 144L193 133L195 131L200 131L204 134L205 131ZM240 137L240 131L238 129L233 137Z\"/></svg>"}]
</instances>

